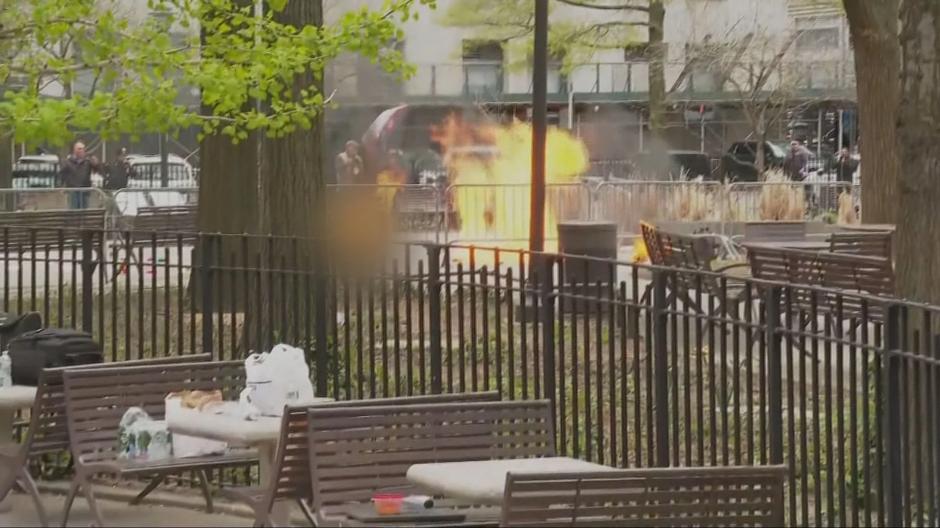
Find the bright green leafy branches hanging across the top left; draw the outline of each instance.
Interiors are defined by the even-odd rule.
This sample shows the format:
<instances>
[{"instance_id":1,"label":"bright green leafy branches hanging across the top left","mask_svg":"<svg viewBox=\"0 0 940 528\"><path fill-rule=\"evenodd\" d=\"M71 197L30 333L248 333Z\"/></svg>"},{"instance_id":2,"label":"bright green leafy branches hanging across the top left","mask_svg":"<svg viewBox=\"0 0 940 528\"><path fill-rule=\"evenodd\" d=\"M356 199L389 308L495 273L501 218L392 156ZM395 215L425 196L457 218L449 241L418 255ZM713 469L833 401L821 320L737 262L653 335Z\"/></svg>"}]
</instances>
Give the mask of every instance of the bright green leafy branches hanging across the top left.
<instances>
[{"instance_id":1,"label":"bright green leafy branches hanging across the top left","mask_svg":"<svg viewBox=\"0 0 940 528\"><path fill-rule=\"evenodd\" d=\"M305 1L305 0L298 0ZM399 37L397 22L412 0L382 10L354 9L331 25L281 20L283 1L253 5L230 0L151 0L162 17L122 16L116 0L4 0L0 12L0 134L26 143L65 144L76 130L173 132L198 125L235 141L249 132L281 137L311 127L327 97L316 83L326 61L352 52L386 70L407 69L396 53L380 53ZM182 42L169 26L189 31ZM204 38L200 43L195 28ZM53 49L70 50L54 54ZM311 75L312 74L312 75ZM63 89L80 76L95 89ZM50 97L56 86L65 93ZM181 90L202 94L201 111L177 103ZM263 110L252 101L265 101Z\"/></svg>"}]
</instances>

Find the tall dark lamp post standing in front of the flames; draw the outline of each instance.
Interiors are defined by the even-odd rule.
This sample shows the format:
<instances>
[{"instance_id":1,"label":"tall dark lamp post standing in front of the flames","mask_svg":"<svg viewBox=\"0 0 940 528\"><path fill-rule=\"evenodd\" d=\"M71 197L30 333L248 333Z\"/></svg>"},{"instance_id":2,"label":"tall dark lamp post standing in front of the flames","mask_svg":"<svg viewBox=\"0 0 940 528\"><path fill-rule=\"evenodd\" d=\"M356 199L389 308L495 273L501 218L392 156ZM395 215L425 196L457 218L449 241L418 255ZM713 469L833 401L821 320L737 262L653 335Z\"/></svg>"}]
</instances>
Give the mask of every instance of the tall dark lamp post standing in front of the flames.
<instances>
[{"instance_id":1,"label":"tall dark lamp post standing in front of the flames","mask_svg":"<svg viewBox=\"0 0 940 528\"><path fill-rule=\"evenodd\" d=\"M535 0L532 50L532 181L529 250L545 250L545 138L548 114L548 0Z\"/></svg>"}]
</instances>

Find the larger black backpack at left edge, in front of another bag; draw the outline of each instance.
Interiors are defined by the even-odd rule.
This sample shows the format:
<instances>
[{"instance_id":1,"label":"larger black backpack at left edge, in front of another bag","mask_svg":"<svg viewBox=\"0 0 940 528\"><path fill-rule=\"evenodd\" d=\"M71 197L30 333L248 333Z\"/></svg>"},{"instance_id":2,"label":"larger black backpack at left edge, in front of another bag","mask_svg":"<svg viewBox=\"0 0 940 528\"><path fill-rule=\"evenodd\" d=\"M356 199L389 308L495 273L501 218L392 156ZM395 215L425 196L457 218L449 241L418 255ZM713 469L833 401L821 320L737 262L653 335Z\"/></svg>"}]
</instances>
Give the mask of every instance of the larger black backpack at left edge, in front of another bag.
<instances>
[{"instance_id":1,"label":"larger black backpack at left edge, in front of another bag","mask_svg":"<svg viewBox=\"0 0 940 528\"><path fill-rule=\"evenodd\" d=\"M43 368L102 363L102 346L87 332L43 328L20 334L9 342L13 383L36 386Z\"/></svg>"}]
</instances>

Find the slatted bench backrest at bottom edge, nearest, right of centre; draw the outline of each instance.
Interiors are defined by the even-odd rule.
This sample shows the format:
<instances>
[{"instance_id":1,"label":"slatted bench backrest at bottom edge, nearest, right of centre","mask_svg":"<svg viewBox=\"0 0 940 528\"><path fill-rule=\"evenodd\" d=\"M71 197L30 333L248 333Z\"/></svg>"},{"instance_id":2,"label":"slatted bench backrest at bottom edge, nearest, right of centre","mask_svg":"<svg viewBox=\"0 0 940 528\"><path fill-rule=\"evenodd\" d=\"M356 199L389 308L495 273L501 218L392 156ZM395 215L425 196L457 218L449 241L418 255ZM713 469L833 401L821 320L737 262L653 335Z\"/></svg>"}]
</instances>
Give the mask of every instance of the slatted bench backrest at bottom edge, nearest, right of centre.
<instances>
[{"instance_id":1,"label":"slatted bench backrest at bottom edge, nearest, right of centre","mask_svg":"<svg viewBox=\"0 0 940 528\"><path fill-rule=\"evenodd\" d=\"M786 466L509 473L501 528L783 526Z\"/></svg>"}]
</instances>

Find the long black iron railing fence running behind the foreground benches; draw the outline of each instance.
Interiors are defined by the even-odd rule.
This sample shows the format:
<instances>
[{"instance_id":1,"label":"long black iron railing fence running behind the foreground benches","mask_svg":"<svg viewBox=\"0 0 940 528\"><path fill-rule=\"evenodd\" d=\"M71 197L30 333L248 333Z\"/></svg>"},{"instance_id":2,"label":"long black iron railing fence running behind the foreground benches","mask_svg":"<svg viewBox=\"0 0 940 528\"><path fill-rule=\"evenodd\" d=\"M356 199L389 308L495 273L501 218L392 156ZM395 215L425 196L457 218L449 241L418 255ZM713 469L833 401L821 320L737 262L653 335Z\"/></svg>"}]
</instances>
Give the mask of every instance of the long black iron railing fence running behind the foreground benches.
<instances>
[{"instance_id":1,"label":"long black iron railing fence running behind the foreground benches","mask_svg":"<svg viewBox=\"0 0 940 528\"><path fill-rule=\"evenodd\" d=\"M436 244L10 227L0 249L0 308L113 361L283 341L319 395L550 397L579 458L785 462L791 526L940 521L936 307Z\"/></svg>"}]
</instances>

